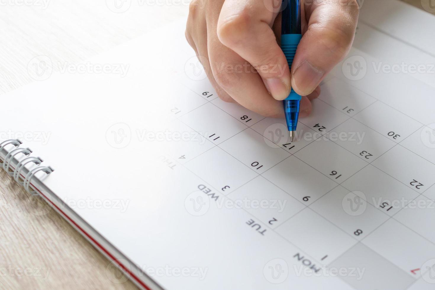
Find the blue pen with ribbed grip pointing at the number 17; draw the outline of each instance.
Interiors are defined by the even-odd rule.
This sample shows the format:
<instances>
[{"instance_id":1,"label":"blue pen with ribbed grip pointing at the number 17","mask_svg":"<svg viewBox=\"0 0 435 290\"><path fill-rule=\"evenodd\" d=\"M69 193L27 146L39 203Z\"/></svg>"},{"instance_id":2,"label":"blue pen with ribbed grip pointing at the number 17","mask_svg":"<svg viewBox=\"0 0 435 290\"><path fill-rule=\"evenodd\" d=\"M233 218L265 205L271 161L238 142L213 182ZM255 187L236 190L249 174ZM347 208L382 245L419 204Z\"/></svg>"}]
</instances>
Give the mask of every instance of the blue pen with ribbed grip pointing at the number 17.
<instances>
[{"instance_id":1,"label":"blue pen with ribbed grip pointing at the number 17","mask_svg":"<svg viewBox=\"0 0 435 290\"><path fill-rule=\"evenodd\" d=\"M291 69L296 48L302 38L301 1L283 0L281 5L284 9L281 20L281 49L287 58L288 67ZM290 95L284 100L285 120L290 132L291 142L293 142L296 135L301 99L302 97L291 89Z\"/></svg>"}]
</instances>

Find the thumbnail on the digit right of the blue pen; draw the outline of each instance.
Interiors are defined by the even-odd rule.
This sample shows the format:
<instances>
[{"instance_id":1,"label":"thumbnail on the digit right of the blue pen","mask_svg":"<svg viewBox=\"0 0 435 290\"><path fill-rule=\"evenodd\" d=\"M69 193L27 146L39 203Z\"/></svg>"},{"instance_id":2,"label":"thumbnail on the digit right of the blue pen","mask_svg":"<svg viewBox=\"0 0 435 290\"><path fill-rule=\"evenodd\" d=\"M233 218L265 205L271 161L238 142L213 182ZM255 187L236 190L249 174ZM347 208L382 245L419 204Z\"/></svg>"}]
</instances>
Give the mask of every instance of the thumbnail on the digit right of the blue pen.
<instances>
[{"instance_id":1,"label":"thumbnail on the digit right of the blue pen","mask_svg":"<svg viewBox=\"0 0 435 290\"><path fill-rule=\"evenodd\" d=\"M324 74L323 71L305 60L294 70L291 85L296 92L302 96L307 96L319 85Z\"/></svg>"}]
</instances>

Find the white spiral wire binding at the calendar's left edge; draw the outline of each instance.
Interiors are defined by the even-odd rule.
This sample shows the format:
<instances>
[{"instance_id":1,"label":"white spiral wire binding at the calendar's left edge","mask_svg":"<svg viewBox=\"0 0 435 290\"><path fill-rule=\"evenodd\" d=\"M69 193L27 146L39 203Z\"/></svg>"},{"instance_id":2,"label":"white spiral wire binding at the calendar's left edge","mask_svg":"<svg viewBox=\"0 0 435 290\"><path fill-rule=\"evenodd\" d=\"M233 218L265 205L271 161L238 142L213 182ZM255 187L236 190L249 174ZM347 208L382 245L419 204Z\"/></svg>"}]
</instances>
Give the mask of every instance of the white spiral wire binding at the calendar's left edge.
<instances>
[{"instance_id":1,"label":"white spiral wire binding at the calendar's left edge","mask_svg":"<svg viewBox=\"0 0 435 290\"><path fill-rule=\"evenodd\" d=\"M19 183L21 186L23 186L24 189L28 193L34 194L37 192L36 192L36 190L33 190L33 188L30 186L32 185L32 179L35 176L35 174L37 172L43 171L44 173L46 173L48 175L48 174L52 173L54 170L51 167L41 166L41 163L43 162L43 160L40 157L30 156L30 154L32 153L32 150L30 150L29 148L20 148L21 144L22 144L22 142L18 139L10 139L10 140L6 140L6 141L1 142L0 143L0 153L8 145L13 145L17 148L13 148L9 152L7 152L7 155L4 158L4 160L2 161L0 159L0 165L3 167L3 169L10 176L13 176L13 179L15 181L17 181L17 183ZM18 162L15 169L13 169L13 167L11 166L11 163L13 160L16 159L15 157L20 153L23 154L25 157L23 159L21 159ZM30 164L30 163L33 163L33 166L28 169L29 172L24 176L23 169L26 167L26 164Z\"/></svg>"}]
</instances>

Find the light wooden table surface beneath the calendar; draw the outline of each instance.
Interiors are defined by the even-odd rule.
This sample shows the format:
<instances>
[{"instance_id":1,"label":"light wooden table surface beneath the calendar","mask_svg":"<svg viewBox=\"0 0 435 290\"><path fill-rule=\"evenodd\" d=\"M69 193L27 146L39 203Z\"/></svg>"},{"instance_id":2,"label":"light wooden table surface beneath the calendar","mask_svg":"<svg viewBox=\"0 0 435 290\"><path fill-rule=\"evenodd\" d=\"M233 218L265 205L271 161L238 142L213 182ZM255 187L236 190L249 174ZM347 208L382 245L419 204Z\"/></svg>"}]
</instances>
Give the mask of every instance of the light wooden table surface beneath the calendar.
<instances>
[{"instance_id":1,"label":"light wooden table surface beneath the calendar","mask_svg":"<svg viewBox=\"0 0 435 290\"><path fill-rule=\"evenodd\" d=\"M130 0L127 0L127 4ZM425 0L404 0L422 8ZM186 5L141 5L123 13L114 0L33 0L0 9L0 94L33 81L27 63L46 55L76 63L176 17ZM151 3L151 2L149 2ZM47 4L47 5L46 5ZM3 5L3 4L2 4ZM116 10L113 12L112 10ZM57 68L54 67L54 70ZM0 171L0 289L137 289L42 200Z\"/></svg>"}]
</instances>

